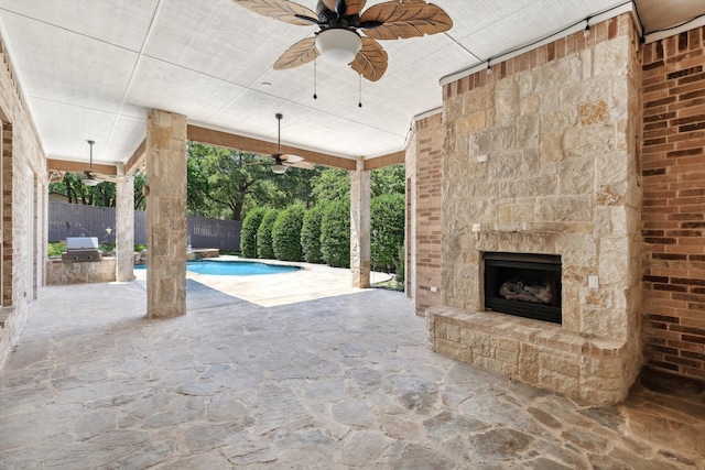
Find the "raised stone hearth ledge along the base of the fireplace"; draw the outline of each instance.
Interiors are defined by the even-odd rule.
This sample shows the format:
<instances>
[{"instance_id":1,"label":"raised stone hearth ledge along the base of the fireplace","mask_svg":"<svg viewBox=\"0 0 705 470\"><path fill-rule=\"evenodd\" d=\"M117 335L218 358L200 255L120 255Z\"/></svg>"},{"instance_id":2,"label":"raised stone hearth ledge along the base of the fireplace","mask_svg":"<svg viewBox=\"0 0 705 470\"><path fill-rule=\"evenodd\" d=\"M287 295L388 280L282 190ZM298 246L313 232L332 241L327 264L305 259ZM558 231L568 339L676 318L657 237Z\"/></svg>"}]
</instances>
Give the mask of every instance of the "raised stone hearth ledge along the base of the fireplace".
<instances>
[{"instance_id":1,"label":"raised stone hearth ledge along the base of the fireplace","mask_svg":"<svg viewBox=\"0 0 705 470\"><path fill-rule=\"evenodd\" d=\"M636 345L544 321L444 306L426 319L434 352L585 403L623 400L641 364Z\"/></svg>"}]
</instances>

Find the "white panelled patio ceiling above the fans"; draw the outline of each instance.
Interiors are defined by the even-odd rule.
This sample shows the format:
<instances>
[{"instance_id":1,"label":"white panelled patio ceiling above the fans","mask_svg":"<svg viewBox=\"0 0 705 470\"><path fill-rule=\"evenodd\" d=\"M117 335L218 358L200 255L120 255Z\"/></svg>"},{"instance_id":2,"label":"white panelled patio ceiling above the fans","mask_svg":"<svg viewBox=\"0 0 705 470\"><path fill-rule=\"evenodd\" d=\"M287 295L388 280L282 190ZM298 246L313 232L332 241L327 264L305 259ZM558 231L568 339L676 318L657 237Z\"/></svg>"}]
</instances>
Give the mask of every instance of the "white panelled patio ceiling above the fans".
<instances>
[{"instance_id":1,"label":"white panelled patio ceiling above the fans","mask_svg":"<svg viewBox=\"0 0 705 470\"><path fill-rule=\"evenodd\" d=\"M368 7L380 1L368 1ZM315 10L315 0L300 3ZM315 26L260 17L231 0L0 0L0 33L50 159L126 162L151 108L189 123L332 155L402 150L414 116L442 105L440 79L549 36L623 0L435 0L446 33L384 41L376 83L317 61L273 70ZM629 2L627 2L629 4ZM664 8L665 4L669 8ZM705 2L639 0L646 32L705 13Z\"/></svg>"}]
</instances>

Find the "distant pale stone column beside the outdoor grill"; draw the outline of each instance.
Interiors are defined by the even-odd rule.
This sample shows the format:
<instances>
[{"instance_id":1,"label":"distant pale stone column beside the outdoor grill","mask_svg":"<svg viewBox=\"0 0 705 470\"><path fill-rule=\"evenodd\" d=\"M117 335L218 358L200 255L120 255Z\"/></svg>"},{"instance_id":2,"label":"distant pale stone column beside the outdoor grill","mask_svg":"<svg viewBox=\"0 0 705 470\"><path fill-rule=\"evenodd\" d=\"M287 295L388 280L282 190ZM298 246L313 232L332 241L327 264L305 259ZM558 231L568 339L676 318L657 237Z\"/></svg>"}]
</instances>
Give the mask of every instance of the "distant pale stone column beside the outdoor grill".
<instances>
[{"instance_id":1,"label":"distant pale stone column beside the outdoor grill","mask_svg":"<svg viewBox=\"0 0 705 470\"><path fill-rule=\"evenodd\" d=\"M124 175L124 164L118 164L118 174ZM134 280L134 179L115 183L115 277L118 282Z\"/></svg>"}]
</instances>

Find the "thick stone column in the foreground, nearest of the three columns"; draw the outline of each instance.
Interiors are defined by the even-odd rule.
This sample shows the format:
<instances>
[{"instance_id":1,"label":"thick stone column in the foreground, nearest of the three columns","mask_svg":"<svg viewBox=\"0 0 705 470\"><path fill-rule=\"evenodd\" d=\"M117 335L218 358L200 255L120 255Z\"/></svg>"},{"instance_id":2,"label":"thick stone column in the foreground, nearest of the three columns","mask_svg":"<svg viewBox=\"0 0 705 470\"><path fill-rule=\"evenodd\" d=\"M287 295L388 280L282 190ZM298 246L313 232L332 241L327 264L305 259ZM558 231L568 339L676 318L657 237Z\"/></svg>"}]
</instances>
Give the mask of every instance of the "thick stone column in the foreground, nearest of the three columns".
<instances>
[{"instance_id":1,"label":"thick stone column in the foreground, nearest of the three columns","mask_svg":"<svg viewBox=\"0 0 705 470\"><path fill-rule=\"evenodd\" d=\"M147 120L147 316L186 314L186 117Z\"/></svg>"}]
</instances>

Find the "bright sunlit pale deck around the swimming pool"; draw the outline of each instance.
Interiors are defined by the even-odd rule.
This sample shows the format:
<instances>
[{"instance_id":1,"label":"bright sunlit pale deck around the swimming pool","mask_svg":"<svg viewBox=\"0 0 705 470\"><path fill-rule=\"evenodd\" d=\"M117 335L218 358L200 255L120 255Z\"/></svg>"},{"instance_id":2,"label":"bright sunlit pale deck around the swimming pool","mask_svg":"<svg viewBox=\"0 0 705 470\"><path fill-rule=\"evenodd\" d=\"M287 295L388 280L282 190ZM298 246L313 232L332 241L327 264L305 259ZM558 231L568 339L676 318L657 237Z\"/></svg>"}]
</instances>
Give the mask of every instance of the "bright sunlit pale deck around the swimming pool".
<instances>
[{"instance_id":1,"label":"bright sunlit pale deck around the swimming pool","mask_svg":"<svg viewBox=\"0 0 705 470\"><path fill-rule=\"evenodd\" d=\"M247 260L221 255L209 261L257 261L268 264L289 264L302 269L291 273L257 275L212 275L186 271L186 277L207 285L224 294L251 302L262 307L294 304L316 298L352 294L362 289L352 287L352 273L347 267L330 267L325 264L296 263L275 260ZM138 280L147 280L147 270L134 270ZM370 282L390 278L386 273L371 273Z\"/></svg>"}]
</instances>

